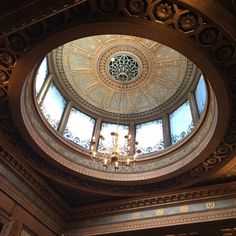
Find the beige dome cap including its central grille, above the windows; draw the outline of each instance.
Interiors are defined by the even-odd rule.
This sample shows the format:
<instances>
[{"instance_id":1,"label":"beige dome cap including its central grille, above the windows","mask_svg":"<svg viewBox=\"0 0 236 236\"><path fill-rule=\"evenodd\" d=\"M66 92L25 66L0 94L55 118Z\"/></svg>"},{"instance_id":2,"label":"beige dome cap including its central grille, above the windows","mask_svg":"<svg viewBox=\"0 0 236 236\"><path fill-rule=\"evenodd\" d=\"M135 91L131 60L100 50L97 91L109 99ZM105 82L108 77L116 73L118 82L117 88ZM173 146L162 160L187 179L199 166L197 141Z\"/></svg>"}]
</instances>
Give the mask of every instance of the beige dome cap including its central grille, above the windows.
<instances>
[{"instance_id":1,"label":"beige dome cap including its central grille, above the windows","mask_svg":"<svg viewBox=\"0 0 236 236\"><path fill-rule=\"evenodd\" d=\"M54 50L53 58L69 96L105 116L160 111L182 95L193 72L193 64L174 49L126 35L78 39Z\"/></svg>"}]
</instances>

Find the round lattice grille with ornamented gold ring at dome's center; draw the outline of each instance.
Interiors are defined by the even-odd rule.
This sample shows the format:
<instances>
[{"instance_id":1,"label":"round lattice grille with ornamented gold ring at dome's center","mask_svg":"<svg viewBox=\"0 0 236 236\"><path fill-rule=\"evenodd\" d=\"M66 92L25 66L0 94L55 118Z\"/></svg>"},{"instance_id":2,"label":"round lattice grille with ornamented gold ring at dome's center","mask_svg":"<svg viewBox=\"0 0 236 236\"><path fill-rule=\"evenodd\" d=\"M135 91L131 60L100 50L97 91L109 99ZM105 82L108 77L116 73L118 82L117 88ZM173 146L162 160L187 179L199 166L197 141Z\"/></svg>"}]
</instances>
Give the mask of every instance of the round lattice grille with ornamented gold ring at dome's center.
<instances>
[{"instance_id":1,"label":"round lattice grille with ornamented gold ring at dome's center","mask_svg":"<svg viewBox=\"0 0 236 236\"><path fill-rule=\"evenodd\" d=\"M136 73L129 72L129 63L134 63L130 66L130 70L137 69ZM118 66L118 70L120 69L120 75L114 69L114 64ZM122 67L126 68L122 71ZM122 44L108 48L98 59L99 78L115 89L120 88L121 84L122 89L133 89L139 86L148 78L149 67L149 61L144 53L132 45ZM125 75L126 73L130 73L130 76ZM126 80L126 82L121 80Z\"/></svg>"}]
</instances>

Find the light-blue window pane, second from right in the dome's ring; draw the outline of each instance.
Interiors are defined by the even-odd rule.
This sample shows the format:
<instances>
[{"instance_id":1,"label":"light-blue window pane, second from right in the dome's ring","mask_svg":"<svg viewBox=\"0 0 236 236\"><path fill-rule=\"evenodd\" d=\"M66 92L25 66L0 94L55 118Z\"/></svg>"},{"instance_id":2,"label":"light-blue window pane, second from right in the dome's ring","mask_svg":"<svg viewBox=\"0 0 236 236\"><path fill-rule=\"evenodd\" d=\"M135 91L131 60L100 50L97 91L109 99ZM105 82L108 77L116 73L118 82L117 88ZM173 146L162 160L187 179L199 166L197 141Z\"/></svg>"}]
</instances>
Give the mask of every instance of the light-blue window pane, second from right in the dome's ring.
<instances>
[{"instance_id":1,"label":"light-blue window pane, second from right in the dome's ring","mask_svg":"<svg viewBox=\"0 0 236 236\"><path fill-rule=\"evenodd\" d=\"M183 139L194 128L189 101L177 108L169 116L171 144Z\"/></svg>"}]
</instances>

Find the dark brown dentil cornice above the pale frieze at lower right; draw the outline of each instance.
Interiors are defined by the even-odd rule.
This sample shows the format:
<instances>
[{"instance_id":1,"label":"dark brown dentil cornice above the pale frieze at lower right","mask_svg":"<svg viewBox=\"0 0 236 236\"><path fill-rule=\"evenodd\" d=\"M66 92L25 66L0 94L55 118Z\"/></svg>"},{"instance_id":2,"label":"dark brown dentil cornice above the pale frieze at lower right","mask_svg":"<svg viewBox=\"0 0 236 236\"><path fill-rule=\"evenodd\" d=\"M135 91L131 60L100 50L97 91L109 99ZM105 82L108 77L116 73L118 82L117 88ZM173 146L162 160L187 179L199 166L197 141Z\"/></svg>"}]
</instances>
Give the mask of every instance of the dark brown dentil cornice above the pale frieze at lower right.
<instances>
[{"instance_id":1,"label":"dark brown dentil cornice above the pale frieze at lower right","mask_svg":"<svg viewBox=\"0 0 236 236\"><path fill-rule=\"evenodd\" d=\"M141 211L147 208L166 207L174 204L210 201L211 199L222 199L232 196L236 197L236 182L169 192L152 197L134 198L112 203L99 203L73 209L70 215L71 220L78 220L95 216L105 216L107 214Z\"/></svg>"}]
</instances>

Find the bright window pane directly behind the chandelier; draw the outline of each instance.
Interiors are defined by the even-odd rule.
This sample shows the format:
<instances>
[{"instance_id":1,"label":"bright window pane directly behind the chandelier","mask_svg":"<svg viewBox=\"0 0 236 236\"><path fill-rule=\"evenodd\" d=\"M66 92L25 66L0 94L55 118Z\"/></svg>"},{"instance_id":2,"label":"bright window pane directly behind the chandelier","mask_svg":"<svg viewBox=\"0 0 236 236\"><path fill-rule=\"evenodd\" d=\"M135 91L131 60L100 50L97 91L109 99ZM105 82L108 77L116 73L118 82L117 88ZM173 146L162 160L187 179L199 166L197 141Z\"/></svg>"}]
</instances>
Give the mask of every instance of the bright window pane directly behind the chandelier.
<instances>
[{"instance_id":1,"label":"bright window pane directly behind the chandelier","mask_svg":"<svg viewBox=\"0 0 236 236\"><path fill-rule=\"evenodd\" d=\"M126 153L123 151L126 146L126 140L124 136L129 134L129 126L110 123L102 123L100 134L105 138L105 140L103 142L101 139L99 140L98 152L103 152L104 148L108 153L112 152L113 139L111 132L117 132L119 134L119 152L121 155L126 155Z\"/></svg>"}]
</instances>

